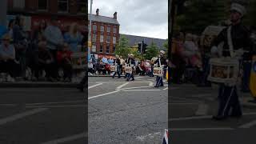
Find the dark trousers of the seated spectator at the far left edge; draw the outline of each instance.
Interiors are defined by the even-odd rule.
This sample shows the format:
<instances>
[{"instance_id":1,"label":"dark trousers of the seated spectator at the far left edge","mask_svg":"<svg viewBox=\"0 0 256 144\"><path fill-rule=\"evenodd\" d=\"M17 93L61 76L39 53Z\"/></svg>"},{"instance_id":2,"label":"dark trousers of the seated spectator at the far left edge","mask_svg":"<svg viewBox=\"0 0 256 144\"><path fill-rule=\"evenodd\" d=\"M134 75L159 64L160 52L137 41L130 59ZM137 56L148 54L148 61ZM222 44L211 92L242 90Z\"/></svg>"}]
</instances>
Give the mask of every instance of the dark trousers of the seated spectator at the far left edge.
<instances>
[{"instance_id":1,"label":"dark trousers of the seated spectator at the far left edge","mask_svg":"<svg viewBox=\"0 0 256 144\"><path fill-rule=\"evenodd\" d=\"M18 64L14 60L0 61L0 73L10 74L11 77L17 77Z\"/></svg>"}]
</instances>

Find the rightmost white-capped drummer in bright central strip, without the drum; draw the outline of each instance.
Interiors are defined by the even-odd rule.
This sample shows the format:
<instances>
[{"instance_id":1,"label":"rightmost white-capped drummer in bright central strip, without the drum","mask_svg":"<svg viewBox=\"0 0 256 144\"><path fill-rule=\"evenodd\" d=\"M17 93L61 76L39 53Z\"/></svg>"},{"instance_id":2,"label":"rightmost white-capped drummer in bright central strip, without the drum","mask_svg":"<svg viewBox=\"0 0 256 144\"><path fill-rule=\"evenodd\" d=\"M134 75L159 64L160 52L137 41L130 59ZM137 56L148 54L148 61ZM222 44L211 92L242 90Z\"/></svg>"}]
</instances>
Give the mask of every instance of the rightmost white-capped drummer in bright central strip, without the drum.
<instances>
[{"instance_id":1,"label":"rightmost white-capped drummer in bright central strip, without the drum","mask_svg":"<svg viewBox=\"0 0 256 144\"><path fill-rule=\"evenodd\" d=\"M163 50L160 50L158 59L154 62L154 64L157 64L157 66L166 66L166 58L164 58L165 52ZM162 77L156 78L156 84L154 87L163 86Z\"/></svg>"}]
</instances>

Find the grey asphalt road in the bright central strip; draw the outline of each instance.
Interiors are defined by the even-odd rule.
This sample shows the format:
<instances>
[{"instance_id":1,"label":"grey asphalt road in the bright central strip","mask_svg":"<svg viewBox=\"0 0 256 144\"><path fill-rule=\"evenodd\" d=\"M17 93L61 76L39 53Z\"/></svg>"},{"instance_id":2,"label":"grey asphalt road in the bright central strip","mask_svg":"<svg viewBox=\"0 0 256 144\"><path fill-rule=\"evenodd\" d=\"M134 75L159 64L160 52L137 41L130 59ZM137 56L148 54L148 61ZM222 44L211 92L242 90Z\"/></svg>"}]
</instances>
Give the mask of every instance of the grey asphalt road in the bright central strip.
<instances>
[{"instance_id":1,"label":"grey asphalt road in the bright central strip","mask_svg":"<svg viewBox=\"0 0 256 144\"><path fill-rule=\"evenodd\" d=\"M162 143L168 90L154 88L154 79L89 78L89 143Z\"/></svg>"}]
</instances>

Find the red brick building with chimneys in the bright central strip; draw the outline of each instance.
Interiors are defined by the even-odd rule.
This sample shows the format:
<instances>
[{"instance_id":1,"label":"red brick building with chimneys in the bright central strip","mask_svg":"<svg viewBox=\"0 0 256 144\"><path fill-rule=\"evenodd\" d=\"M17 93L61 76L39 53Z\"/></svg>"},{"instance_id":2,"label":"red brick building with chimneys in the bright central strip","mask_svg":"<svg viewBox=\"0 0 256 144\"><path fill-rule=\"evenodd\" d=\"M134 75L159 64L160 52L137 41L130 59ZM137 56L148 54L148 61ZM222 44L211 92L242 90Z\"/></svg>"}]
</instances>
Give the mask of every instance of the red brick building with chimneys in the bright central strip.
<instances>
[{"instance_id":1,"label":"red brick building with chimneys in the bright central strip","mask_svg":"<svg viewBox=\"0 0 256 144\"><path fill-rule=\"evenodd\" d=\"M90 14L88 14L88 18L90 18ZM120 24L117 20L117 12L114 13L113 17L106 17L99 15L99 10L97 10L91 18L91 53L98 54L99 57L102 55L113 56L119 39Z\"/></svg>"}]
</instances>

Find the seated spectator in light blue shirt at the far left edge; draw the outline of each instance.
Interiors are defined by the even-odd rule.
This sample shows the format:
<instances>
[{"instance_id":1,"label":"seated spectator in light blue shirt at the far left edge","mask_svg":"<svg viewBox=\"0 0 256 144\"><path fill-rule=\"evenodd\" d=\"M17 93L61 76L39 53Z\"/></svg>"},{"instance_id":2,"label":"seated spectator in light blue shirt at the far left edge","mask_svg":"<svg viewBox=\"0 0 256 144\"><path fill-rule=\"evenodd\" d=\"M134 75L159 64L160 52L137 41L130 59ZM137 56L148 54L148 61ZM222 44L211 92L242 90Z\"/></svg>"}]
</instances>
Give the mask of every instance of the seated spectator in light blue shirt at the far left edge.
<instances>
[{"instance_id":1,"label":"seated spectator in light blue shirt at the far left edge","mask_svg":"<svg viewBox=\"0 0 256 144\"><path fill-rule=\"evenodd\" d=\"M10 36L5 34L2 37L2 44L0 46L0 73L7 73L7 81L14 82L16 78L18 62L15 61L15 49L10 45Z\"/></svg>"}]
</instances>

